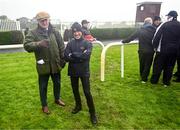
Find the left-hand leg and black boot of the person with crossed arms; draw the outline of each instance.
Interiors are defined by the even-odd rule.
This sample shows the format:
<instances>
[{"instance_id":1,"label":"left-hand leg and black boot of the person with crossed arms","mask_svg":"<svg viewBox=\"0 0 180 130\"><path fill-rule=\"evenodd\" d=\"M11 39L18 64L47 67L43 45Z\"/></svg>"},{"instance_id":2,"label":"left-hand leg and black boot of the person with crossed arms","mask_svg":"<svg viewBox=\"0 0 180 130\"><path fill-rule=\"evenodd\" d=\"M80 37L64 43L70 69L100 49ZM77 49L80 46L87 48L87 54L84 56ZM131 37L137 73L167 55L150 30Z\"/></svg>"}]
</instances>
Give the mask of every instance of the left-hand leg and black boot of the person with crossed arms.
<instances>
[{"instance_id":1,"label":"left-hand leg and black boot of the person with crossed arms","mask_svg":"<svg viewBox=\"0 0 180 130\"><path fill-rule=\"evenodd\" d=\"M79 77L72 77L71 76L71 86L72 86L72 90L73 90L73 94L74 94L74 99L76 102L76 106L73 109L72 113L76 114L82 109L81 97L79 94Z\"/></svg>"}]
</instances>

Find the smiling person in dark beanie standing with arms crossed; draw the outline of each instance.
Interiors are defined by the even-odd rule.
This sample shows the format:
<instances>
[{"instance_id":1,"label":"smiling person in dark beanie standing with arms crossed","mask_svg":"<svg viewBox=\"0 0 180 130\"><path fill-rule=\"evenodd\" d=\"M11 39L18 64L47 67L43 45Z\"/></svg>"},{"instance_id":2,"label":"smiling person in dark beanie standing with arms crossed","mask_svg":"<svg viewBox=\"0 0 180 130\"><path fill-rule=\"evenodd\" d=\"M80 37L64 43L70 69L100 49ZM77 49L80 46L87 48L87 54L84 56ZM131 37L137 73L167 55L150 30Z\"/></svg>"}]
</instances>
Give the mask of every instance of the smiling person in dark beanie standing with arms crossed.
<instances>
[{"instance_id":1,"label":"smiling person in dark beanie standing with arms crossed","mask_svg":"<svg viewBox=\"0 0 180 130\"><path fill-rule=\"evenodd\" d=\"M65 60L69 62L68 75L71 79L71 86L76 103L72 113L76 114L82 109L81 98L79 94L79 79L81 79L87 105L89 107L91 122L92 124L97 124L95 107L90 92L89 81L89 62L92 51L92 43L83 39L82 28L79 23L75 22L71 28L74 38L67 44L64 55Z\"/></svg>"}]
</instances>

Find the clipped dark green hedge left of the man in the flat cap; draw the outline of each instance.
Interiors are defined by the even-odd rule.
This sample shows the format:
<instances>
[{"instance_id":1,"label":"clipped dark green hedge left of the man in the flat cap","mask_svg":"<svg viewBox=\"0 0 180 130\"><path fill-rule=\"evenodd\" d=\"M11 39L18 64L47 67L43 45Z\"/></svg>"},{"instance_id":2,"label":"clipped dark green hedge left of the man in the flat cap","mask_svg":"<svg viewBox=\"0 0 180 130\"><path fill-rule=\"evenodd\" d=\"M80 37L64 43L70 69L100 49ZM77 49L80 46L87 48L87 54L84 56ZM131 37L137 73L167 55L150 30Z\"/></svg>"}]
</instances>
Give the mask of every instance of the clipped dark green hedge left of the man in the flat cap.
<instances>
[{"instance_id":1,"label":"clipped dark green hedge left of the man in the flat cap","mask_svg":"<svg viewBox=\"0 0 180 130\"><path fill-rule=\"evenodd\" d=\"M23 44L23 40L21 31L0 32L0 45Z\"/></svg>"}]
</instances>

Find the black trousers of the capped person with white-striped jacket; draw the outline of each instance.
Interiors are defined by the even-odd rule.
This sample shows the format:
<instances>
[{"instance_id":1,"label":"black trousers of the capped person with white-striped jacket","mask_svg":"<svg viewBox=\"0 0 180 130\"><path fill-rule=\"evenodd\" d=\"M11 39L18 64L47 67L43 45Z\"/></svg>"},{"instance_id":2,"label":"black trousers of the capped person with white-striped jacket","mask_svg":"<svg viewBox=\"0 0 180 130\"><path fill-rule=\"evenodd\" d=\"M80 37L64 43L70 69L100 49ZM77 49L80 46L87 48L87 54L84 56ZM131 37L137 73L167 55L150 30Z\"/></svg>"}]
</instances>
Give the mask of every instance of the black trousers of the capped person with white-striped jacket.
<instances>
[{"instance_id":1,"label":"black trousers of the capped person with white-striped jacket","mask_svg":"<svg viewBox=\"0 0 180 130\"><path fill-rule=\"evenodd\" d=\"M165 85L170 85L176 57L177 54L175 53L156 53L151 83L158 83L161 72L163 71L163 83Z\"/></svg>"}]
</instances>

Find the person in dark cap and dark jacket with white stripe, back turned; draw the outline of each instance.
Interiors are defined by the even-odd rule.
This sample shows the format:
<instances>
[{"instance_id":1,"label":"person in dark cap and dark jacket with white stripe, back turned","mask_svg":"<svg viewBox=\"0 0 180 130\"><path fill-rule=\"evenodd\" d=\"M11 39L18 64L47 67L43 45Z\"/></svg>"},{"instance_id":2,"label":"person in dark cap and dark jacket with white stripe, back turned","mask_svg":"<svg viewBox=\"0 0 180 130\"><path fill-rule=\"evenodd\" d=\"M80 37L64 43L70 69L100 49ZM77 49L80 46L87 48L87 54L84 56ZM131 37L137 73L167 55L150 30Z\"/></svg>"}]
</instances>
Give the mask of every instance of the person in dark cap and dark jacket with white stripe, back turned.
<instances>
[{"instance_id":1,"label":"person in dark cap and dark jacket with white stripe, back turned","mask_svg":"<svg viewBox=\"0 0 180 130\"><path fill-rule=\"evenodd\" d=\"M176 11L170 11L167 14L168 21L162 23L154 35L153 47L157 52L153 64L152 84L158 83L163 71L164 87L170 85L180 39L180 22L177 21L177 16Z\"/></svg>"}]
</instances>

